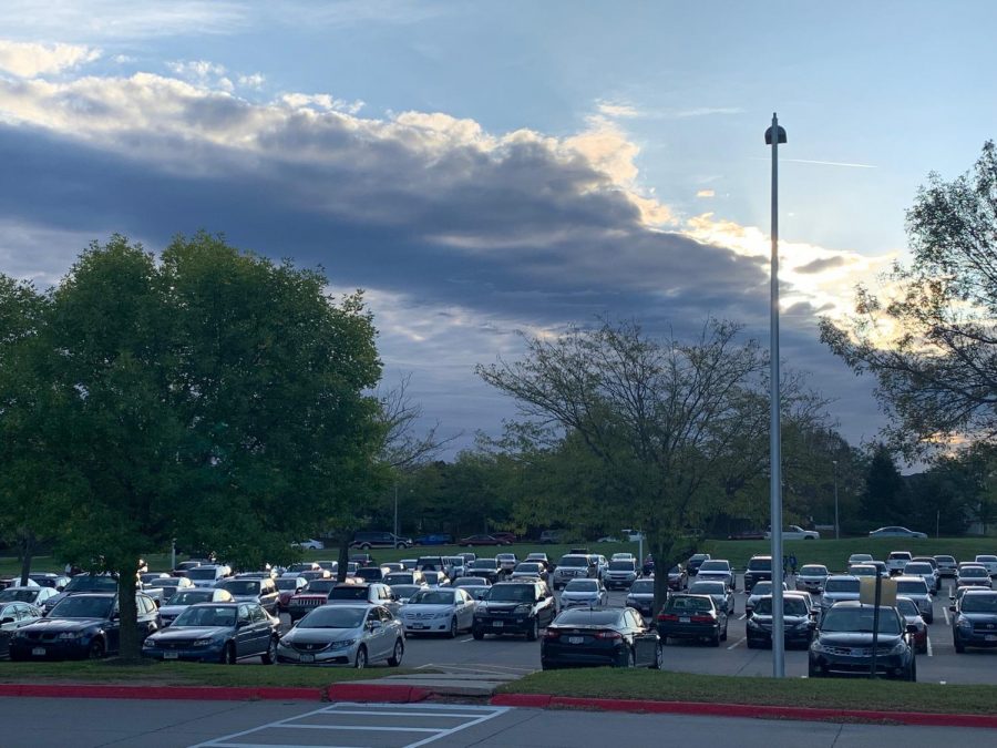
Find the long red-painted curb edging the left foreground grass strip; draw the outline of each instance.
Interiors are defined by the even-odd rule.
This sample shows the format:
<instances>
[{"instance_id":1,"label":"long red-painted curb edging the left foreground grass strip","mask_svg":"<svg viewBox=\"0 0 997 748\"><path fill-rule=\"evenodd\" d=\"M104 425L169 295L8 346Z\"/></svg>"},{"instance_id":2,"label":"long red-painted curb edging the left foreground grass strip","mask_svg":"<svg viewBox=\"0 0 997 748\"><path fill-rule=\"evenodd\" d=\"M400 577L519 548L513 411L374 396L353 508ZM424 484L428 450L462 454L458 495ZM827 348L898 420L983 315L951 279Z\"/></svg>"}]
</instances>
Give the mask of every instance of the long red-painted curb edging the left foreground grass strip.
<instances>
[{"instance_id":1,"label":"long red-painted curb edging the left foreground grass strip","mask_svg":"<svg viewBox=\"0 0 997 748\"><path fill-rule=\"evenodd\" d=\"M103 684L0 684L0 696L45 698L132 698L197 701L298 699L321 701L320 688L223 686L109 686Z\"/></svg>"}]
</instances>

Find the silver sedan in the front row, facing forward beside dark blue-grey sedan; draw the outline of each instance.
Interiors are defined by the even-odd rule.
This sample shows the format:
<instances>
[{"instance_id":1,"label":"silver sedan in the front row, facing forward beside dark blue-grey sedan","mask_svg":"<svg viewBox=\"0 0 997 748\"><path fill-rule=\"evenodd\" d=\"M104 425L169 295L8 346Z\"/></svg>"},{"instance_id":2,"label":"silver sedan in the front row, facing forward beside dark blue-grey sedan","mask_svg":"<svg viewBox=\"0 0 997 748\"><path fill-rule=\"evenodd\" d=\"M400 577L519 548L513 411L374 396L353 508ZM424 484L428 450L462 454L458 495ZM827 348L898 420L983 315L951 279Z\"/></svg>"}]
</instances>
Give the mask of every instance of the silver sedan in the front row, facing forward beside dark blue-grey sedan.
<instances>
[{"instance_id":1,"label":"silver sedan in the front row, facing forward beside dark blue-grey sedan","mask_svg":"<svg viewBox=\"0 0 997 748\"><path fill-rule=\"evenodd\" d=\"M316 608L277 644L278 663L348 665L358 669L378 662L398 667L404 654L402 624L382 605Z\"/></svg>"}]
</instances>

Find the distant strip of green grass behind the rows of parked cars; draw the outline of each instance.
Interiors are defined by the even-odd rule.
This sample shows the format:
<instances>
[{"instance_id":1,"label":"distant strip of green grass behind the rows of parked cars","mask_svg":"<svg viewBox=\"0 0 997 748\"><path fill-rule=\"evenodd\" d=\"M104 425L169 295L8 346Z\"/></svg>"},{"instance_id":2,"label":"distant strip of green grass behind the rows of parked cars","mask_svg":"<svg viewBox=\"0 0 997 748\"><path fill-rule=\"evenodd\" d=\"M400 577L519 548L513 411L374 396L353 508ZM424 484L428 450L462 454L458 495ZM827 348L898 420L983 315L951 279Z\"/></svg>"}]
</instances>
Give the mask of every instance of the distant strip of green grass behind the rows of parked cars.
<instances>
[{"instance_id":1,"label":"distant strip of green grass behind the rows of parked cars","mask_svg":"<svg viewBox=\"0 0 997 748\"><path fill-rule=\"evenodd\" d=\"M610 556L614 553L638 553L637 543L588 543L585 544L593 553L602 553ZM543 551L547 556L557 562L567 553L572 545L541 545L539 543L517 543L511 546L464 549L456 545L417 546L405 550L374 549L371 555L378 561L400 561L401 559L415 559L420 555L454 555L463 551L472 551L479 556L489 557L496 553L512 552L521 559L532 551ZM832 572L844 571L847 559L853 553L871 553L874 559L885 560L891 551L909 551L914 555L935 555L947 553L958 561L973 560L978 553L997 553L997 539L995 537L929 537L926 540L908 540L904 537L870 539L849 537L840 541L787 541L783 543L784 553L795 554L799 565L806 563L824 564ZM715 559L727 559L734 568L744 568L748 560L754 554L769 553L769 541L706 541L702 552L711 554ZM645 552L647 546L645 545ZM358 551L359 553L359 551ZM307 561L332 560L338 557L336 549L325 551L305 551ZM169 554L150 554L146 557L151 571L168 571ZM182 560L179 556L177 560ZM39 556L32 565L33 571L62 571L62 565L49 556ZM0 557L0 576L10 576L20 572L20 564L11 556Z\"/></svg>"}]
</instances>

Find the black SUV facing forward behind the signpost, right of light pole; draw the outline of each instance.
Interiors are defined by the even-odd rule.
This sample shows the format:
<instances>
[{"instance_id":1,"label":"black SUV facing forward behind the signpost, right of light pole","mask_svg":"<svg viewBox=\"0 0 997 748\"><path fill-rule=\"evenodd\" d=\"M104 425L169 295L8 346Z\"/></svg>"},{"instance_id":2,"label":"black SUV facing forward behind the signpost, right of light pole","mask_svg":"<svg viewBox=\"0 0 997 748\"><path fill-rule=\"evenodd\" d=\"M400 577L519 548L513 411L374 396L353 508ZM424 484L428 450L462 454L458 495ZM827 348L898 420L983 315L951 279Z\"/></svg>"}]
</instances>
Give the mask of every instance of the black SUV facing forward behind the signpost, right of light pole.
<instances>
[{"instance_id":1,"label":"black SUV facing forward behind the signpost, right of light pole","mask_svg":"<svg viewBox=\"0 0 997 748\"><path fill-rule=\"evenodd\" d=\"M875 606L859 601L835 603L821 618L810 645L808 675L864 675L873 664L873 619ZM894 607L881 605L876 675L903 680L917 679L914 656L915 626L908 626Z\"/></svg>"}]
</instances>

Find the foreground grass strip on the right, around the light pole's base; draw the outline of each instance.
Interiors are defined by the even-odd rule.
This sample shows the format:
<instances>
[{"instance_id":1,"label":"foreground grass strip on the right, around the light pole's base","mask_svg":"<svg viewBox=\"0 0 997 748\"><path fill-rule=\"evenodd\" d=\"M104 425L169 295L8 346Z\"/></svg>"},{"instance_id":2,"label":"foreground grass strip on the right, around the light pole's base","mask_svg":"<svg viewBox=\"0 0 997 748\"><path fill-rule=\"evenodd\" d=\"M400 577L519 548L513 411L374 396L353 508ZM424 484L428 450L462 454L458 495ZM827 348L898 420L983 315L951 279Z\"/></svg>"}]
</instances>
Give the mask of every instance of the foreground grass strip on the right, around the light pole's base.
<instances>
[{"instance_id":1,"label":"foreground grass strip on the right, around the light pole's base","mask_svg":"<svg viewBox=\"0 0 997 748\"><path fill-rule=\"evenodd\" d=\"M547 670L505 684L498 691L825 709L994 714L993 686L942 686L864 679L777 680L644 669Z\"/></svg>"}]
</instances>

